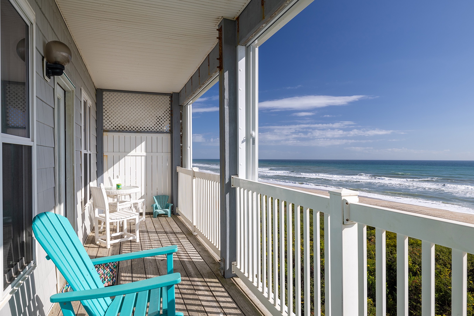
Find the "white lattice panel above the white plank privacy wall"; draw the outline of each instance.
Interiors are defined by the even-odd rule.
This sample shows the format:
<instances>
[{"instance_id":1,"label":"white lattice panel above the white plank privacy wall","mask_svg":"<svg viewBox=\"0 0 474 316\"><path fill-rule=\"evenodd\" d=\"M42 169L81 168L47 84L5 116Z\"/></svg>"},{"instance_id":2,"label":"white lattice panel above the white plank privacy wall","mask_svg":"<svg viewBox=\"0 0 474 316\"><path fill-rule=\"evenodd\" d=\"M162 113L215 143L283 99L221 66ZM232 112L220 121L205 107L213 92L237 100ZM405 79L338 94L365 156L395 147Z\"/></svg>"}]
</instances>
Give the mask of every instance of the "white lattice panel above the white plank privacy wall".
<instances>
[{"instance_id":1,"label":"white lattice panel above the white plank privacy wall","mask_svg":"<svg viewBox=\"0 0 474 316\"><path fill-rule=\"evenodd\" d=\"M169 132L170 97L151 93L103 92L104 130Z\"/></svg>"}]
</instances>

